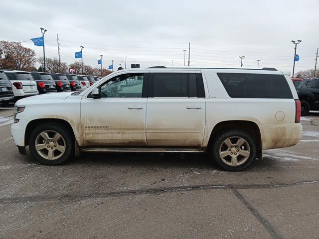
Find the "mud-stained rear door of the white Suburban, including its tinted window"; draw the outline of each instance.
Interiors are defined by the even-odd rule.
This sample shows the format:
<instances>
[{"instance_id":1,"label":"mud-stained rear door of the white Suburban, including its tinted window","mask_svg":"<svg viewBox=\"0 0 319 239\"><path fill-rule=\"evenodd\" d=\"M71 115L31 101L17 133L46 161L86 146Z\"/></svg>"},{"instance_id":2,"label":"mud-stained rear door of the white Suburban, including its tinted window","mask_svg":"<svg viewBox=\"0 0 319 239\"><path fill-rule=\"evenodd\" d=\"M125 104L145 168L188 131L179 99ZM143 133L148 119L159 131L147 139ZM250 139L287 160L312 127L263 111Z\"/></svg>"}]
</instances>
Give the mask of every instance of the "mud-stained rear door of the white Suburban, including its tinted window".
<instances>
[{"instance_id":1,"label":"mud-stained rear door of the white Suburban, including its tinted window","mask_svg":"<svg viewBox=\"0 0 319 239\"><path fill-rule=\"evenodd\" d=\"M204 129L205 93L201 73L150 73L148 145L202 146Z\"/></svg>"}]
</instances>

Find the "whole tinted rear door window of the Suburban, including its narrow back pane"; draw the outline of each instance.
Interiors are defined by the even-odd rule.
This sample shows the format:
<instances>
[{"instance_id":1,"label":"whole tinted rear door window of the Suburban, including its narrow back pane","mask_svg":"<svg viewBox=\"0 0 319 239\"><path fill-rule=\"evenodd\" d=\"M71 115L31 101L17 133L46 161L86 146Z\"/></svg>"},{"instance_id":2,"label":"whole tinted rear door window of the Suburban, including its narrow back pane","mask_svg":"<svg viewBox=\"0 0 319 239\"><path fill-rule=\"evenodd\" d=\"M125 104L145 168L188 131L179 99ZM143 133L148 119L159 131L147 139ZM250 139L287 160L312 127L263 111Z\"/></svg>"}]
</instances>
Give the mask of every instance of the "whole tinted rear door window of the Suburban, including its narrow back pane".
<instances>
[{"instance_id":1,"label":"whole tinted rear door window of the Suburban, including its narrow back pane","mask_svg":"<svg viewBox=\"0 0 319 239\"><path fill-rule=\"evenodd\" d=\"M205 97L201 74L153 73L152 75L150 97Z\"/></svg>"}]
</instances>

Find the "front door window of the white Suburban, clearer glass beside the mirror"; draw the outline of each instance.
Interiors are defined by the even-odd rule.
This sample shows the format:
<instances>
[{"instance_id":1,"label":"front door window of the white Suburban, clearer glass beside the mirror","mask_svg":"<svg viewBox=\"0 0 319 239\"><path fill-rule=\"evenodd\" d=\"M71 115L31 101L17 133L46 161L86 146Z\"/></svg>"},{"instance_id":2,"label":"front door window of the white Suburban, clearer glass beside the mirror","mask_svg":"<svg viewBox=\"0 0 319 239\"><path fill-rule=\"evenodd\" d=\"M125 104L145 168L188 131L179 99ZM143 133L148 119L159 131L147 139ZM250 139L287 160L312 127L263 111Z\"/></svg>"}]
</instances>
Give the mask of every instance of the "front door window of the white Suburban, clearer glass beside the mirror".
<instances>
[{"instance_id":1,"label":"front door window of the white Suburban, clearer glass beside the mirror","mask_svg":"<svg viewBox=\"0 0 319 239\"><path fill-rule=\"evenodd\" d=\"M101 86L101 98L142 98L144 74L125 74Z\"/></svg>"}]
</instances>

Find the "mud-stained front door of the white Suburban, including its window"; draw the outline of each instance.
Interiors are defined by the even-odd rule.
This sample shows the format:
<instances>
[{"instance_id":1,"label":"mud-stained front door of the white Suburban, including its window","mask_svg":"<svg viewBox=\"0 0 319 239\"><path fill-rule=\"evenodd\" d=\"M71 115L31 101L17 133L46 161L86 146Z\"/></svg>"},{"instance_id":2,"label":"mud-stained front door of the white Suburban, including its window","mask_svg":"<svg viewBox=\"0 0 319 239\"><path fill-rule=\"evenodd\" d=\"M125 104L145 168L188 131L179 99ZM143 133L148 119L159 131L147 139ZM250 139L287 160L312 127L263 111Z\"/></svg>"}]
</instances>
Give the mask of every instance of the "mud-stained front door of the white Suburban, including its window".
<instances>
[{"instance_id":1,"label":"mud-stained front door of the white Suburban, including its window","mask_svg":"<svg viewBox=\"0 0 319 239\"><path fill-rule=\"evenodd\" d=\"M81 146L146 145L147 78L147 73L118 75L99 86L101 98L82 99Z\"/></svg>"}]
</instances>

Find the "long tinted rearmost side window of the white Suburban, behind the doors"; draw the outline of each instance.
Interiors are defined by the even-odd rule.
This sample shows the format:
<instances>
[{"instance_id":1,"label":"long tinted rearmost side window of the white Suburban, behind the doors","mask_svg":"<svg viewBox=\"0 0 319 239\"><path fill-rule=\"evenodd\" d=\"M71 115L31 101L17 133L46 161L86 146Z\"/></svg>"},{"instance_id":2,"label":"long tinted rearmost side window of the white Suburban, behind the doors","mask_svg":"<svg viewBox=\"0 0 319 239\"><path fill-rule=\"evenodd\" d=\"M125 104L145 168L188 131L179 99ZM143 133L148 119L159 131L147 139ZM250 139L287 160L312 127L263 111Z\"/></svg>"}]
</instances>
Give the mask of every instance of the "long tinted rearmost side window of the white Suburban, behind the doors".
<instances>
[{"instance_id":1,"label":"long tinted rearmost side window of the white Suburban, behind the doors","mask_svg":"<svg viewBox=\"0 0 319 239\"><path fill-rule=\"evenodd\" d=\"M293 99L283 75L217 73L231 98Z\"/></svg>"}]
</instances>

